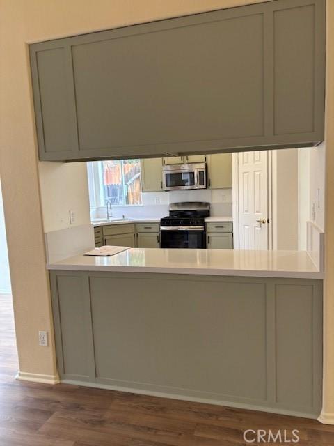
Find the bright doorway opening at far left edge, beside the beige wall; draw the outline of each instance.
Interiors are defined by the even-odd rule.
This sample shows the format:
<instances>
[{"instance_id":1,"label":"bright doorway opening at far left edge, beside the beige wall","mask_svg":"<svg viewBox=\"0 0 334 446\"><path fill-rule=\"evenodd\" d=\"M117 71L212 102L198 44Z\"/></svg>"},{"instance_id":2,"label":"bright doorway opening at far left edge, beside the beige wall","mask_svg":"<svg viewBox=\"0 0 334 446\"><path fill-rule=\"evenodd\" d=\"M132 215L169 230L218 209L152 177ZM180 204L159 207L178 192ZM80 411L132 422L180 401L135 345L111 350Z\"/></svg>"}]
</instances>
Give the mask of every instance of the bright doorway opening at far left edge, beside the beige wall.
<instances>
[{"instance_id":1,"label":"bright doorway opening at far left edge, beside the beige wall","mask_svg":"<svg viewBox=\"0 0 334 446\"><path fill-rule=\"evenodd\" d=\"M13 300L0 184L0 383L13 380L17 369Z\"/></svg>"}]
</instances>

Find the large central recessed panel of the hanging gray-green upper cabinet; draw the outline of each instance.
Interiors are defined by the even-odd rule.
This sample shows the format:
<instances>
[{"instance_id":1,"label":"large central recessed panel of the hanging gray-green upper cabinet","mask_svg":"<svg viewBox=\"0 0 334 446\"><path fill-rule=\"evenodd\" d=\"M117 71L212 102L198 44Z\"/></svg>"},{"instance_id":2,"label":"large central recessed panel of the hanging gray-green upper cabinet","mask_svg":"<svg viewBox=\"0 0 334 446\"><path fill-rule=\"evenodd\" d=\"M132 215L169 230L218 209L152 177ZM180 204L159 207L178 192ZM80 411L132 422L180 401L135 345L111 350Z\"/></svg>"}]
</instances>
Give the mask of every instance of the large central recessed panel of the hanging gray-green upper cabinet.
<instances>
[{"instance_id":1,"label":"large central recessed panel of the hanging gray-green upper cabinet","mask_svg":"<svg viewBox=\"0 0 334 446\"><path fill-rule=\"evenodd\" d=\"M208 20L143 24L72 47L79 151L263 134L263 15Z\"/></svg>"}]
</instances>

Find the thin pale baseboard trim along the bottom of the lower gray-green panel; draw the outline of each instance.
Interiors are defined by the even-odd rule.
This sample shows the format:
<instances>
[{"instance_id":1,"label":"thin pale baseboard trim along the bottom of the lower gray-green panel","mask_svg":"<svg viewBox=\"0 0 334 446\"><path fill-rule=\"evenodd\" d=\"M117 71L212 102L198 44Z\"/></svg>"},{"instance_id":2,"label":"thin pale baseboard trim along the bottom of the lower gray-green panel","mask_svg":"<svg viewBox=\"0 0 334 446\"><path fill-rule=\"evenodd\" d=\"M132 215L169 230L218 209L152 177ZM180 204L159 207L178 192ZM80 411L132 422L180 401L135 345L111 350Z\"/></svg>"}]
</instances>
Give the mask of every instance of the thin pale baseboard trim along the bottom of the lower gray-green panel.
<instances>
[{"instance_id":1,"label":"thin pale baseboard trim along the bottom of the lower gray-green panel","mask_svg":"<svg viewBox=\"0 0 334 446\"><path fill-rule=\"evenodd\" d=\"M129 392L139 395L149 395L150 397L160 397L168 399L178 399L181 401L191 401L192 403L204 403L204 404L214 404L215 406L226 406L247 410L259 410L260 412L267 413L277 413L279 415L289 415L292 417L303 417L310 418L312 420L317 420L317 415L312 415L310 413L305 413L299 410L289 410L281 408L271 408L264 406L257 406L256 404L247 403L234 403L232 401L220 401L216 399L200 398L200 397L188 397L180 394L165 393L165 392L155 392L153 390L138 390L132 387L122 387L118 385L100 384L100 383L86 383L85 381L62 379L61 383L71 384L71 385L81 385L83 387L93 387L95 389L105 389L105 390L116 390L117 392Z\"/></svg>"}]
</instances>

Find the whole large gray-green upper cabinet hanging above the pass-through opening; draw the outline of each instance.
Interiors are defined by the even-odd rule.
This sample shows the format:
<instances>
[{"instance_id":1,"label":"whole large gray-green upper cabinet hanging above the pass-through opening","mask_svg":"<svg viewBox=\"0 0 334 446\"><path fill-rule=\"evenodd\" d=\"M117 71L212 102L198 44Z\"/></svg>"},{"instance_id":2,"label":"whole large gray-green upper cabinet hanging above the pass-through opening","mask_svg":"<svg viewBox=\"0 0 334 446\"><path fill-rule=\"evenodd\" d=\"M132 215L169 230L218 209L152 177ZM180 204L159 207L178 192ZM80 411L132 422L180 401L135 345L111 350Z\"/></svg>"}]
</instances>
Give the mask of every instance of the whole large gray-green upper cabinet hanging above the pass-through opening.
<instances>
[{"instance_id":1,"label":"whole large gray-green upper cabinet hanging above the pass-through opening","mask_svg":"<svg viewBox=\"0 0 334 446\"><path fill-rule=\"evenodd\" d=\"M276 0L30 45L41 160L324 139L324 0Z\"/></svg>"}]
</instances>

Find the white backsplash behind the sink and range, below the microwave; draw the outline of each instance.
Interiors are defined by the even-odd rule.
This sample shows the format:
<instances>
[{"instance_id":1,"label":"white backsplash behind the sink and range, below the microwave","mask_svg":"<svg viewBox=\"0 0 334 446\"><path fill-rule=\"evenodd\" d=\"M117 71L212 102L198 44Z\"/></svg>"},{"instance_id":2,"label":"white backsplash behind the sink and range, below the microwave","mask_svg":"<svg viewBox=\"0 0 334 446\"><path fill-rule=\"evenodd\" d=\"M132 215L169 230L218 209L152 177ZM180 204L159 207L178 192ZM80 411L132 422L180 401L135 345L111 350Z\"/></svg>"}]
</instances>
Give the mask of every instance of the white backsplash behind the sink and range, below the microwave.
<instances>
[{"instance_id":1,"label":"white backsplash behind the sink and range, below the microwave","mask_svg":"<svg viewBox=\"0 0 334 446\"><path fill-rule=\"evenodd\" d=\"M170 192L143 192L142 206L113 206L113 217L161 218L168 215L169 203L179 201L207 201L213 216L232 215L232 189L173 190ZM90 210L92 219L106 217L106 208Z\"/></svg>"}]
</instances>

